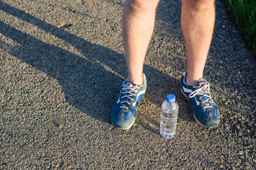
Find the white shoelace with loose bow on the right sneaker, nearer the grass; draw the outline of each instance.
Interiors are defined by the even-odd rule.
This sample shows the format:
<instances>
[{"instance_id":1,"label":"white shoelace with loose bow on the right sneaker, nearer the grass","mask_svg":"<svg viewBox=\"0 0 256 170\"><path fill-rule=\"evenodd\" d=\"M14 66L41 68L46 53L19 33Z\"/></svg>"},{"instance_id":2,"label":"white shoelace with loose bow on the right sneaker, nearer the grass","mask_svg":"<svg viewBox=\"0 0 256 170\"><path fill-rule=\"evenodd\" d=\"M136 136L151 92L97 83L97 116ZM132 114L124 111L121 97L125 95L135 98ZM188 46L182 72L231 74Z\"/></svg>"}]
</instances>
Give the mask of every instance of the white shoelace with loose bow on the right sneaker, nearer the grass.
<instances>
[{"instance_id":1,"label":"white shoelace with loose bow on the right sneaker, nearer the grass","mask_svg":"<svg viewBox=\"0 0 256 170\"><path fill-rule=\"evenodd\" d=\"M193 88L197 88L195 91L191 92L191 94L189 94L189 98L192 98L192 97L195 97L196 95L201 95L199 97L199 99L202 99L203 97L206 97L206 99L204 99L204 101L202 101L202 103L205 104L204 108L212 108L212 106L210 105L210 103L212 101L209 101L211 99L211 96L210 96L210 85L209 83L207 83L207 81L203 80L202 83L200 84L199 87L197 86L193 86Z\"/></svg>"}]
</instances>

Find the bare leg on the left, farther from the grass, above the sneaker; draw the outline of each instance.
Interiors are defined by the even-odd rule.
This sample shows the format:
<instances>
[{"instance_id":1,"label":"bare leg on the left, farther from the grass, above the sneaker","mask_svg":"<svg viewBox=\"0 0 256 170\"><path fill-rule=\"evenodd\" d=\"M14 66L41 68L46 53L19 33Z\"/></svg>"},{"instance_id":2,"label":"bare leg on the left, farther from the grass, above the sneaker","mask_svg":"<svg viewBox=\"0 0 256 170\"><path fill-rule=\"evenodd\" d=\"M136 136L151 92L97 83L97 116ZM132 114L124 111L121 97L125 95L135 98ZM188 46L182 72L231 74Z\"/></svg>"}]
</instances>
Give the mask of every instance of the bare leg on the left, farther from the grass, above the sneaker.
<instances>
[{"instance_id":1,"label":"bare leg on the left, farther from the grass, above the sneaker","mask_svg":"<svg viewBox=\"0 0 256 170\"><path fill-rule=\"evenodd\" d=\"M158 0L127 0L123 13L123 38L127 80L143 84L143 62L152 36Z\"/></svg>"}]
</instances>

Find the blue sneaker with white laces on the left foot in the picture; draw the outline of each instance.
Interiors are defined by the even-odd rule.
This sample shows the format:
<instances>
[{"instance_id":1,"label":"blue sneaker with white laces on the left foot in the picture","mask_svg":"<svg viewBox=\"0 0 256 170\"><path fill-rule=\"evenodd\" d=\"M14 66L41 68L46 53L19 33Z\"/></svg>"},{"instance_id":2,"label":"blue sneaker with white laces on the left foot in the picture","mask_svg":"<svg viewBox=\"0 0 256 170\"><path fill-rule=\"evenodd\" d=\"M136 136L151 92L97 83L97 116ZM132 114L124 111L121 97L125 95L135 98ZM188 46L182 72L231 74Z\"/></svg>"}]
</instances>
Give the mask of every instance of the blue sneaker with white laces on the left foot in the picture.
<instances>
[{"instance_id":1,"label":"blue sneaker with white laces on the left foot in the picture","mask_svg":"<svg viewBox=\"0 0 256 170\"><path fill-rule=\"evenodd\" d=\"M125 80L111 110L111 122L118 129L130 129L137 117L138 105L147 89L145 74L143 85L134 85Z\"/></svg>"}]
</instances>

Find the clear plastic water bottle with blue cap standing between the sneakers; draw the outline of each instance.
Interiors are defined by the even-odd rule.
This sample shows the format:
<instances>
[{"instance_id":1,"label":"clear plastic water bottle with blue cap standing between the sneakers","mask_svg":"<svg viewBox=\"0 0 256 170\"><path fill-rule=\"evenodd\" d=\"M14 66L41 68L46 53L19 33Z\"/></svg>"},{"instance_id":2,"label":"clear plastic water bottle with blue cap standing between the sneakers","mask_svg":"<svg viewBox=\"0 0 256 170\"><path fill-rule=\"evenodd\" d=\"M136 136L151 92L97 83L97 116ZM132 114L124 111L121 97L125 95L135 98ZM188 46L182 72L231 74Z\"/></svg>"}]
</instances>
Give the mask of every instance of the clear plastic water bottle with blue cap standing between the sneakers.
<instances>
[{"instance_id":1,"label":"clear plastic water bottle with blue cap standing between the sneakers","mask_svg":"<svg viewBox=\"0 0 256 170\"><path fill-rule=\"evenodd\" d=\"M175 96L168 94L166 101L162 104L162 114L160 123L160 134L164 138L172 138L177 127L179 105L175 102Z\"/></svg>"}]
</instances>

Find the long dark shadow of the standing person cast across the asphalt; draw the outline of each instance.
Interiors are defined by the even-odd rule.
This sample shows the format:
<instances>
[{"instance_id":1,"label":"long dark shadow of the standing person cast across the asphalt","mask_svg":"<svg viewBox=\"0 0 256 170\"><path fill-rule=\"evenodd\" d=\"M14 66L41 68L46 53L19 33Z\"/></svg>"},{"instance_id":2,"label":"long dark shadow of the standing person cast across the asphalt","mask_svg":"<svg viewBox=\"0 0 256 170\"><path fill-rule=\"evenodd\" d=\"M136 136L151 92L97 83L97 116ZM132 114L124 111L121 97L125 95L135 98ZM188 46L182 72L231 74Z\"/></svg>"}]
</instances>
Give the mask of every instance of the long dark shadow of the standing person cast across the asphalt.
<instances>
[{"instance_id":1,"label":"long dark shadow of the standing person cast across the asphalt","mask_svg":"<svg viewBox=\"0 0 256 170\"><path fill-rule=\"evenodd\" d=\"M0 41L1 48L58 80L68 103L92 118L110 123L111 107L120 90L120 83L124 81L127 74L124 55L79 38L9 4L0 2L0 10L63 39L81 52L83 57L58 46L44 43L0 22L1 34L19 43L17 46L10 47L8 43ZM148 79L145 97L160 107L166 94L175 94L178 103L185 106L180 108L179 117L185 121L194 122L190 114L191 110L188 110L189 104L184 102L184 97L179 92L179 80L147 65L144 67L144 72ZM147 121L159 127L154 117L150 115L147 117ZM148 130L158 132L157 129L150 127Z\"/></svg>"}]
</instances>

